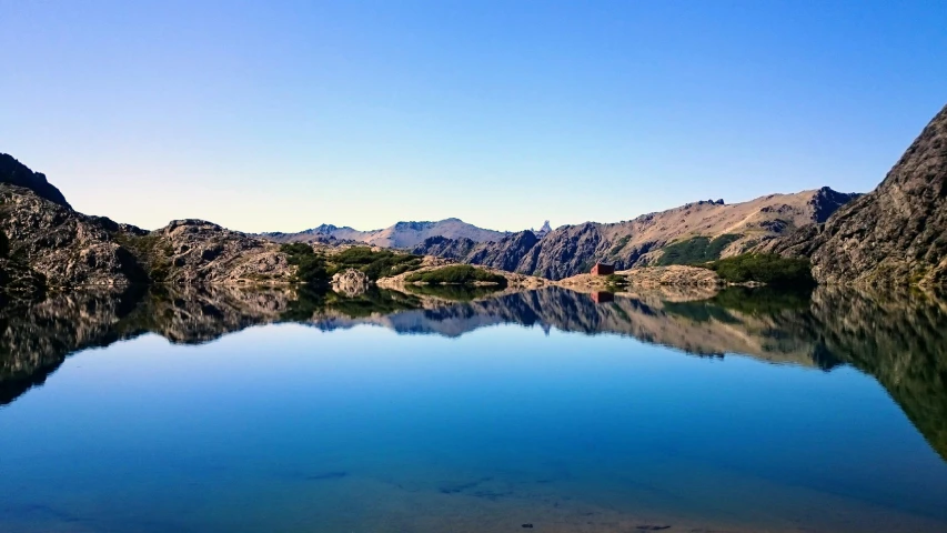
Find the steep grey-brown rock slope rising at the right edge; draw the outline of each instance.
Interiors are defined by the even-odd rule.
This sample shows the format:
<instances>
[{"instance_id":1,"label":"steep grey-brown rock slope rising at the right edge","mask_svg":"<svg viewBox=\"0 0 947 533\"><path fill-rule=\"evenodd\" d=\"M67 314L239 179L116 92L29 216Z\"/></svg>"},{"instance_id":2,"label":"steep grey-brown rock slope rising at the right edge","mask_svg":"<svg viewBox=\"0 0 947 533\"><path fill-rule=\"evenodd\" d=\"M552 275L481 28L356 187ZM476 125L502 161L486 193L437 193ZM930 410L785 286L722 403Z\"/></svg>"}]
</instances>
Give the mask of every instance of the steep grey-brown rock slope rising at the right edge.
<instances>
[{"instance_id":1,"label":"steep grey-brown rock slope rising at the right edge","mask_svg":"<svg viewBox=\"0 0 947 533\"><path fill-rule=\"evenodd\" d=\"M819 283L947 284L947 107L877 189L762 250L808 257Z\"/></svg>"}]
</instances>

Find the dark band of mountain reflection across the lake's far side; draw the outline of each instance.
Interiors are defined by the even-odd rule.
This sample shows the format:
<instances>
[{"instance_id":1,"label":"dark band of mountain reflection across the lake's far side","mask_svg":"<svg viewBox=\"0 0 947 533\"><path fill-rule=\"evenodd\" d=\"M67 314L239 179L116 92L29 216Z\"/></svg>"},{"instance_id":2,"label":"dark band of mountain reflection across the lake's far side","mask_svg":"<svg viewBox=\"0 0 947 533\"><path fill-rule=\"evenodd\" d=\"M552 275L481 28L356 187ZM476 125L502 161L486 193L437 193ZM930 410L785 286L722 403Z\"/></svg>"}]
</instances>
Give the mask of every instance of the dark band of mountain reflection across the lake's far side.
<instances>
[{"instance_id":1,"label":"dark band of mountain reflection across the lake's far side","mask_svg":"<svg viewBox=\"0 0 947 533\"><path fill-rule=\"evenodd\" d=\"M717 294L528 292L426 288L345 296L313 288L155 286L54 294L0 309L0 405L41 385L68 355L144 333L204 343L244 328L295 322L324 331L372 324L459 336L514 323L619 334L688 354L744 354L873 375L947 459L947 302L820 286L813 293L727 289Z\"/></svg>"}]
</instances>

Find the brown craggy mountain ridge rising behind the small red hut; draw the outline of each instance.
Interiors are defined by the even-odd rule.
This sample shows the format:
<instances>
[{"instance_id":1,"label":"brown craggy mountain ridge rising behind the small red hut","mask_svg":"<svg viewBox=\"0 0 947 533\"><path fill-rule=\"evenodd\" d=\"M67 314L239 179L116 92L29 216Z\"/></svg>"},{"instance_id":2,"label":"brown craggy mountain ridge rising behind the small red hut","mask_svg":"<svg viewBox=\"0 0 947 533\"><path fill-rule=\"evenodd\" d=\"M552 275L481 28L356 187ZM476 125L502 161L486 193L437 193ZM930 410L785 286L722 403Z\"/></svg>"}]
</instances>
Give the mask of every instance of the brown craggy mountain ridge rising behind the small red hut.
<instances>
[{"instance_id":1,"label":"brown craggy mountain ridge rising behind the small red hut","mask_svg":"<svg viewBox=\"0 0 947 533\"><path fill-rule=\"evenodd\" d=\"M857 197L823 188L735 204L699 201L625 222L564 225L543 238L532 231L482 243L431 238L412 252L561 280L588 272L600 261L618 270L654 264L669 244L695 238L725 238L719 257L735 255L825 220Z\"/></svg>"}]
</instances>

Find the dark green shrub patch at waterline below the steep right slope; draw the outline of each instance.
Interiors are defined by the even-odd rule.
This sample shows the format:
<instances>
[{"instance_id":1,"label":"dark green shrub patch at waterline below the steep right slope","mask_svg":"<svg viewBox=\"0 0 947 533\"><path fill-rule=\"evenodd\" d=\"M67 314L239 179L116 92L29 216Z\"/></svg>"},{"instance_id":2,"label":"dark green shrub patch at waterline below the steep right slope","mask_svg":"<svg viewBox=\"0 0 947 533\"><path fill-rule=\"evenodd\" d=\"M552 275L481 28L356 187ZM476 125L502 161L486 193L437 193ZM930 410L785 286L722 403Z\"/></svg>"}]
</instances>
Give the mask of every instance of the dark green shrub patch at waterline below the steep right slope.
<instances>
[{"instance_id":1,"label":"dark green shrub patch at waterline below the steep right slope","mask_svg":"<svg viewBox=\"0 0 947 533\"><path fill-rule=\"evenodd\" d=\"M770 285L812 285L812 268L806 259L788 259L772 253L745 253L706 265L729 283L749 281Z\"/></svg>"}]
</instances>

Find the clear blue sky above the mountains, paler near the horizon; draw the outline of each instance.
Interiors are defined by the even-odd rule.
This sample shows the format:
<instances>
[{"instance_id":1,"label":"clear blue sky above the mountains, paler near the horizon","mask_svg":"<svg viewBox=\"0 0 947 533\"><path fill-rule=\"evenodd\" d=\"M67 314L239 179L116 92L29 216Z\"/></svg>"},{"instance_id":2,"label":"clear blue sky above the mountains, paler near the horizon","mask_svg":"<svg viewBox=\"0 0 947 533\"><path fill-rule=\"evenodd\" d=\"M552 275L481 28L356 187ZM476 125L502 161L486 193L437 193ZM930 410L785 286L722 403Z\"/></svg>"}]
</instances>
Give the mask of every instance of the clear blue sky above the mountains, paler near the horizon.
<instances>
[{"instance_id":1,"label":"clear blue sky above the mountains, paler near the horizon","mask_svg":"<svg viewBox=\"0 0 947 533\"><path fill-rule=\"evenodd\" d=\"M149 229L868 191L947 103L944 0L0 0L0 151Z\"/></svg>"}]
</instances>

